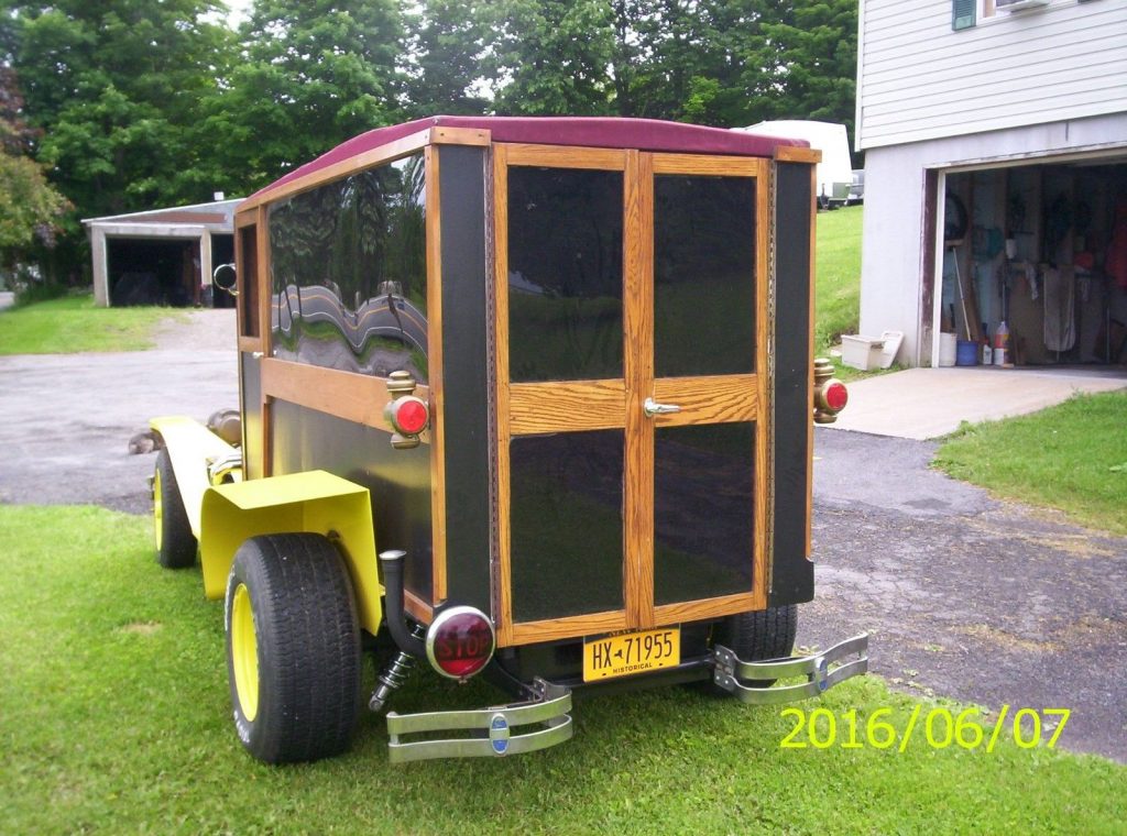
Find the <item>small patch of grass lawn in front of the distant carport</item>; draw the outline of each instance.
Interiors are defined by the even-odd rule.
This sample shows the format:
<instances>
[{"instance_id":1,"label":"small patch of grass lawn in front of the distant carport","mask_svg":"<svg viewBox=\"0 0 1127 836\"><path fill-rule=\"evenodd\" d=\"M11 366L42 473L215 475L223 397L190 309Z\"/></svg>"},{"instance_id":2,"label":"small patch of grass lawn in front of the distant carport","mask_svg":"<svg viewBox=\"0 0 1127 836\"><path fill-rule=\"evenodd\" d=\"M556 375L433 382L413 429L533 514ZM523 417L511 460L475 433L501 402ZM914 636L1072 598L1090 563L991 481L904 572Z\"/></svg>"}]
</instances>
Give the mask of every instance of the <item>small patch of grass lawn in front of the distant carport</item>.
<instances>
[{"instance_id":1,"label":"small patch of grass lawn in front of the distant carport","mask_svg":"<svg viewBox=\"0 0 1127 836\"><path fill-rule=\"evenodd\" d=\"M184 317L169 308L98 308L82 294L0 311L0 355L137 352L152 348L159 322Z\"/></svg>"}]
</instances>

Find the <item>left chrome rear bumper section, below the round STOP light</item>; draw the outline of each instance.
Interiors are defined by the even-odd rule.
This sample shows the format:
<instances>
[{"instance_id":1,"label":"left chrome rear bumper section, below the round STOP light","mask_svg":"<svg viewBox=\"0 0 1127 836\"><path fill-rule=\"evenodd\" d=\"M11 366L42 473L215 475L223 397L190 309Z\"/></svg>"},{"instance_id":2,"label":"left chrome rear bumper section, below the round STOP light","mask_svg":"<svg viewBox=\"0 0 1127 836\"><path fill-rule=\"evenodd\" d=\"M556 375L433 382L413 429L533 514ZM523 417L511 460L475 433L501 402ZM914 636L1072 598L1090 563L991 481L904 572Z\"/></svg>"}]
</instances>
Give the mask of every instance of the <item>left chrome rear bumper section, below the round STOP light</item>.
<instances>
[{"instance_id":1,"label":"left chrome rear bumper section, below the round STOP light","mask_svg":"<svg viewBox=\"0 0 1127 836\"><path fill-rule=\"evenodd\" d=\"M538 683L544 699L477 711L436 711L388 714L388 754L391 763L437 757L500 757L547 749L571 739L571 692ZM533 727L516 731L521 727ZM402 740L405 735L463 731L471 737Z\"/></svg>"}]
</instances>

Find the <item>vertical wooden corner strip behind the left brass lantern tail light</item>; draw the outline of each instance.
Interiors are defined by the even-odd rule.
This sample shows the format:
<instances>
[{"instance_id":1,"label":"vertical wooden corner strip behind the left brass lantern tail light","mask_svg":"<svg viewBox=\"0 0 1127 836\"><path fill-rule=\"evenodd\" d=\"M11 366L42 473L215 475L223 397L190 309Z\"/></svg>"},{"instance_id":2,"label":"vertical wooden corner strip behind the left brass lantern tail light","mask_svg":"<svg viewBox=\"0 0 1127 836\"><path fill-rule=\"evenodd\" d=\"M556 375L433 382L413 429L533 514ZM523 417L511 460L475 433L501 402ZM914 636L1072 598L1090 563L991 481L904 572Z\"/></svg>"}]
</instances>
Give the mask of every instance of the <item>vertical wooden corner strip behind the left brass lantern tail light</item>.
<instances>
[{"instance_id":1,"label":"vertical wooden corner strip behind the left brass lantern tail light","mask_svg":"<svg viewBox=\"0 0 1127 836\"><path fill-rule=\"evenodd\" d=\"M446 599L446 444L443 421L446 401L443 394L442 352L442 192L438 153L433 145L424 150L426 166L426 313L427 381L431 390L431 531L432 597L435 605Z\"/></svg>"}]
</instances>

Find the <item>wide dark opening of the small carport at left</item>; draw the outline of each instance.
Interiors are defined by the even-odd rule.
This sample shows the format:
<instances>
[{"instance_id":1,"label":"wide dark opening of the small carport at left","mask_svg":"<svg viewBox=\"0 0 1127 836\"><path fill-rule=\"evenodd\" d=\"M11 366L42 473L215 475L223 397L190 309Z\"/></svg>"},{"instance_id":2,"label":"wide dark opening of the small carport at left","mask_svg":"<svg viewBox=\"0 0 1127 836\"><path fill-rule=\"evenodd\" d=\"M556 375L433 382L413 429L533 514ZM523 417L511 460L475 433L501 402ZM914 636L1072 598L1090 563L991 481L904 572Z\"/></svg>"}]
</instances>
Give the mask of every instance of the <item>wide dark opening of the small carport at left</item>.
<instances>
[{"instance_id":1,"label":"wide dark opening of the small carport at left","mask_svg":"<svg viewBox=\"0 0 1127 836\"><path fill-rule=\"evenodd\" d=\"M199 242L106 240L110 304L201 304Z\"/></svg>"}]
</instances>

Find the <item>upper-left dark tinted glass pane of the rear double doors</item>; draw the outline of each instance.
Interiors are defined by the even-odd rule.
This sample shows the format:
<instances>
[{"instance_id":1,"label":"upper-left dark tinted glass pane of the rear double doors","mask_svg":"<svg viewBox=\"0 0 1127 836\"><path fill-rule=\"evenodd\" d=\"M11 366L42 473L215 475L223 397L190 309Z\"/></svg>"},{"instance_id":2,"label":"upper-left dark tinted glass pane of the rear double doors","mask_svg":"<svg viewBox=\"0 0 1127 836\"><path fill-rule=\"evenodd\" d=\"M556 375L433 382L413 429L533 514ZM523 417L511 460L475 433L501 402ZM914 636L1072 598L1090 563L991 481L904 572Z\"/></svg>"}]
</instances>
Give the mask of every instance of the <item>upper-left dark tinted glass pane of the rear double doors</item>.
<instances>
[{"instance_id":1,"label":"upper-left dark tinted glass pane of the rear double doors","mask_svg":"<svg viewBox=\"0 0 1127 836\"><path fill-rule=\"evenodd\" d=\"M622 376L622 172L508 170L509 377Z\"/></svg>"}]
</instances>

